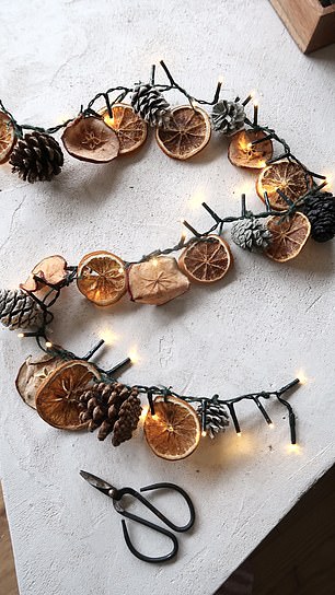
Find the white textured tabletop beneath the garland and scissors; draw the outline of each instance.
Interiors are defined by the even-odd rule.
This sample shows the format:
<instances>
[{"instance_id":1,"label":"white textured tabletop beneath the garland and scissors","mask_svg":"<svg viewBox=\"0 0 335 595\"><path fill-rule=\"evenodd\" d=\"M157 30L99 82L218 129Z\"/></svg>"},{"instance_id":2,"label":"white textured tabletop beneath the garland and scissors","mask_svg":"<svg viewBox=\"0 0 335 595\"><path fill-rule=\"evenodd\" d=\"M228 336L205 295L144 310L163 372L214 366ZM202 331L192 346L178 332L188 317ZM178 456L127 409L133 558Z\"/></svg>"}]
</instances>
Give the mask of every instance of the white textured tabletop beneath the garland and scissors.
<instances>
[{"instance_id":1,"label":"white textured tabletop beneath the garland and scissors","mask_svg":"<svg viewBox=\"0 0 335 595\"><path fill-rule=\"evenodd\" d=\"M95 92L146 79L151 61L164 57L195 95L210 96L220 73L230 97L257 90L261 120L313 170L335 172L335 47L302 56L266 1L2 0L0 12L0 95L21 121L51 125L73 115ZM181 217L204 229L208 217L190 208L196 192L232 213L246 185L250 206L262 207L252 177L229 164L221 140L189 163L169 160L152 139L135 158L108 165L67 158L53 184L30 186L9 166L0 176L7 287L49 254L77 264L85 252L107 248L131 259L176 241ZM56 308L54 338L83 353L109 328L117 342L103 353L106 365L137 346L141 359L127 382L190 394L278 387L303 369L312 382L291 396L300 454L287 451L288 423L276 404L275 430L242 404L243 438L229 430L175 464L155 458L140 434L114 450L108 440L54 430L13 385L34 345L3 329L1 469L23 595L209 595L333 463L334 245L310 242L284 266L233 253L227 281L160 308L124 301L96 310L70 288ZM82 481L80 468L116 486L168 480L187 489L197 524L181 539L178 561L154 567L132 558L111 502Z\"/></svg>"}]
</instances>

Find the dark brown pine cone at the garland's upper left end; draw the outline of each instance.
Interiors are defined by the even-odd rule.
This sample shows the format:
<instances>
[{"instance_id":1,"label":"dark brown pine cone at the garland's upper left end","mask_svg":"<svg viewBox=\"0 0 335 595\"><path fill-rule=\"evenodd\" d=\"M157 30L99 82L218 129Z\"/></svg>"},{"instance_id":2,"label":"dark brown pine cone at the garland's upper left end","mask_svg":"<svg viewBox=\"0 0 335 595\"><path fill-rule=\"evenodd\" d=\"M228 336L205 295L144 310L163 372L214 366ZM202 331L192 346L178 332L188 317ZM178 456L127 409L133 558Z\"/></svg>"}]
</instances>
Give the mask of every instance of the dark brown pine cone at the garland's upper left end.
<instances>
[{"instance_id":1,"label":"dark brown pine cone at the garland's upper left end","mask_svg":"<svg viewBox=\"0 0 335 595\"><path fill-rule=\"evenodd\" d=\"M48 180L57 176L63 164L63 155L59 143L50 135L31 132L20 140L10 158L12 173L34 182Z\"/></svg>"}]
</instances>

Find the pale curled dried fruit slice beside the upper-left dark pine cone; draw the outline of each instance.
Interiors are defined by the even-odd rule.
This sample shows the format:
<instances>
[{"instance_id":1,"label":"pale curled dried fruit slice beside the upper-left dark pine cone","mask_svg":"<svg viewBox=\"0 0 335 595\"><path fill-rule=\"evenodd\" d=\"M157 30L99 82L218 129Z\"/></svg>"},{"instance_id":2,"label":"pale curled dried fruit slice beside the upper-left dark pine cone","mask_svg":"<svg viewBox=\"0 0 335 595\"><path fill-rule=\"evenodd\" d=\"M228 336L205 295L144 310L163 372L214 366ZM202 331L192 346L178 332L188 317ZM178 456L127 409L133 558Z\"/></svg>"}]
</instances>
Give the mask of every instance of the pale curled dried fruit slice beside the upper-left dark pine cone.
<instances>
[{"instance_id":1,"label":"pale curled dried fruit slice beside the upper-left dark pine cone","mask_svg":"<svg viewBox=\"0 0 335 595\"><path fill-rule=\"evenodd\" d=\"M118 155L117 135L102 118L79 116L68 124L62 143L72 158L91 163L108 163Z\"/></svg>"}]
</instances>

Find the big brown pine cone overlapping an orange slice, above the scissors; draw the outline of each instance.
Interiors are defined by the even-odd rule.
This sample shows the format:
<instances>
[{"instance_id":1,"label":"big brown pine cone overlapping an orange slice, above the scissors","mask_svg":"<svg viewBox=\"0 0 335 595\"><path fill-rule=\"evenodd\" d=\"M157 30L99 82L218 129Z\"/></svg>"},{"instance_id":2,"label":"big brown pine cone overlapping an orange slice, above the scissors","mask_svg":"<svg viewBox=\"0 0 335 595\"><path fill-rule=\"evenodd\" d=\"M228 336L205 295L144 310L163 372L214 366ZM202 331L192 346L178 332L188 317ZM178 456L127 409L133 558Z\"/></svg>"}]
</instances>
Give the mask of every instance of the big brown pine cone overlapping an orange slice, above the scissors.
<instances>
[{"instance_id":1,"label":"big brown pine cone overlapping an orange slice, above the scissors","mask_svg":"<svg viewBox=\"0 0 335 595\"><path fill-rule=\"evenodd\" d=\"M117 423L119 422L120 418L124 418L125 411L128 411L128 406L125 410L123 408L128 404L128 401L132 407L132 399L136 399L139 408L139 415L137 417L136 424L134 424L134 421L131 424L132 430L135 430L141 412L141 405L137 394L136 388L128 388L122 383L106 384L101 382L95 384L92 388L85 390L80 396L80 421L89 422L88 428L90 432L93 432L99 428L99 440L105 440L113 430L115 432L115 429L117 434L119 434L123 423L118 425ZM125 440L131 438L132 430L130 431L130 435L128 435L128 438ZM120 444L120 442L123 441L120 440L118 444ZM114 446L118 444L114 444Z\"/></svg>"}]
</instances>

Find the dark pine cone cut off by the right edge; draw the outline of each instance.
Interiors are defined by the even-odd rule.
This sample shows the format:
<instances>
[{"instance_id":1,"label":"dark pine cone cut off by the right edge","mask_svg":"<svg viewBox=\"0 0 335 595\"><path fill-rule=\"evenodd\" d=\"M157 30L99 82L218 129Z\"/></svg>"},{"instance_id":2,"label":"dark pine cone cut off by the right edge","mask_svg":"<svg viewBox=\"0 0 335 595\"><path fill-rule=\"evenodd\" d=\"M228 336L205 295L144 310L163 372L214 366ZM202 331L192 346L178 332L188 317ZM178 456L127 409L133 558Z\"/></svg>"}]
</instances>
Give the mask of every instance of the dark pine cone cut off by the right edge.
<instances>
[{"instance_id":1,"label":"dark pine cone cut off by the right edge","mask_svg":"<svg viewBox=\"0 0 335 595\"><path fill-rule=\"evenodd\" d=\"M315 192L305 199L302 212L311 223L315 242L328 242L335 236L335 198L331 192Z\"/></svg>"}]
</instances>

